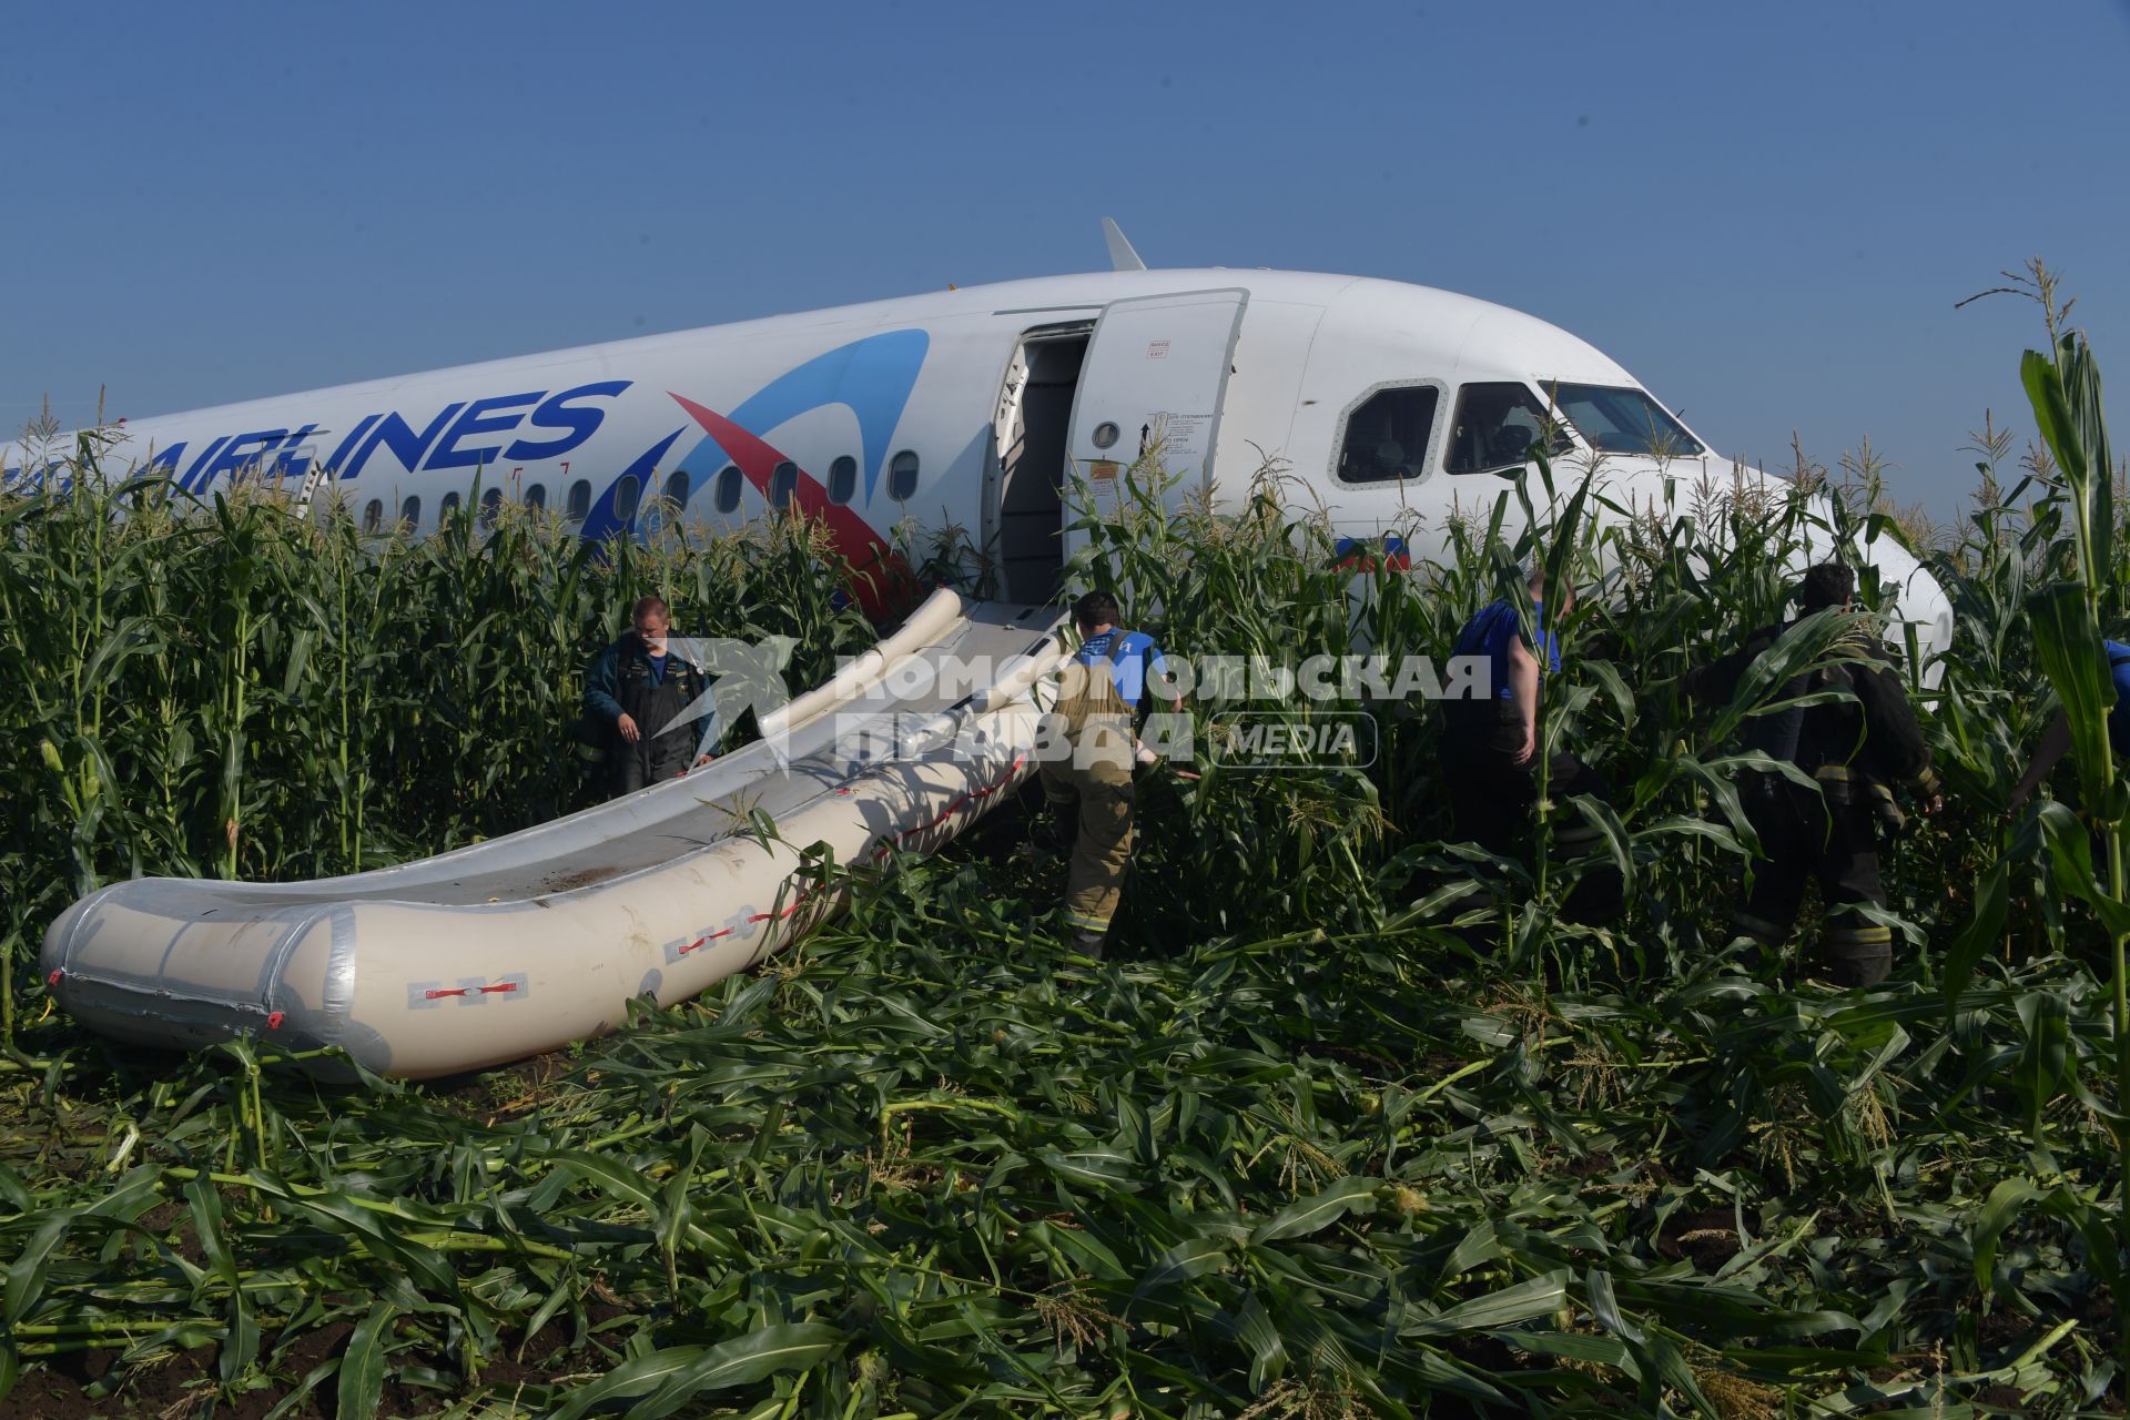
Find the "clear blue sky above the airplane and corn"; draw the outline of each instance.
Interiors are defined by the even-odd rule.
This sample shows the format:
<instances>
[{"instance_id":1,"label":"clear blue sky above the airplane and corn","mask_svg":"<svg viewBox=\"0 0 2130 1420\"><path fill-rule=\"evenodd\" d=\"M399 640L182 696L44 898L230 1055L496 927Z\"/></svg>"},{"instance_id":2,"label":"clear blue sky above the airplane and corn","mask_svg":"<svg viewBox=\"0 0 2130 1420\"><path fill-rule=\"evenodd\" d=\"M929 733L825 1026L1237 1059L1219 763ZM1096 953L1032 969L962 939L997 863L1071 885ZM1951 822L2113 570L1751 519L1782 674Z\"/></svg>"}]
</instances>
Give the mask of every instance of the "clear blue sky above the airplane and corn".
<instances>
[{"instance_id":1,"label":"clear blue sky above the airplane and corn","mask_svg":"<svg viewBox=\"0 0 2130 1420\"><path fill-rule=\"evenodd\" d=\"M1105 266L1440 285L1953 511L2045 255L2130 379L2130 0L28 6L0 428ZM2124 407L2126 394L2117 394ZM2121 441L2119 441L2121 443Z\"/></svg>"}]
</instances>

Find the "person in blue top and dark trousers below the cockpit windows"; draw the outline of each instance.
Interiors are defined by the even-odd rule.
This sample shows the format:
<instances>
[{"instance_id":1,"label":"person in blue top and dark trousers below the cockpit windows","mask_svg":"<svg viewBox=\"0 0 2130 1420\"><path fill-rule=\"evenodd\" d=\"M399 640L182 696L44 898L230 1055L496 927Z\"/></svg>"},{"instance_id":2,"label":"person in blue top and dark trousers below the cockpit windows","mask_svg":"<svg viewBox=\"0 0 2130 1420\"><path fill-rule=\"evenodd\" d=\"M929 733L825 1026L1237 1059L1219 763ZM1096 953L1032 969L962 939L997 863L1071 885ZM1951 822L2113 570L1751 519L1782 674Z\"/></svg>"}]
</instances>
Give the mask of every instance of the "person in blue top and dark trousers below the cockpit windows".
<instances>
[{"instance_id":1,"label":"person in blue top and dark trousers below the cockpit windows","mask_svg":"<svg viewBox=\"0 0 2130 1420\"><path fill-rule=\"evenodd\" d=\"M1451 796L1451 820L1457 837L1497 858L1514 858L1527 845L1531 809L1538 805L1538 683L1561 671L1555 628L1574 607L1570 588L1559 611L1549 615L1544 585L1540 562L1525 583L1536 645L1525 634L1523 611L1502 598L1465 622L1451 651L1487 658L1487 696L1442 703L1442 781ZM1606 796L1604 777L1572 754L1549 756L1544 766L1546 794L1555 800L1572 794ZM1566 858L1593 852L1600 839L1600 830L1580 815L1563 818L1553 830L1553 845ZM1617 918L1623 890L1619 869L1591 869L1563 903L1563 915L1572 922Z\"/></svg>"}]
</instances>

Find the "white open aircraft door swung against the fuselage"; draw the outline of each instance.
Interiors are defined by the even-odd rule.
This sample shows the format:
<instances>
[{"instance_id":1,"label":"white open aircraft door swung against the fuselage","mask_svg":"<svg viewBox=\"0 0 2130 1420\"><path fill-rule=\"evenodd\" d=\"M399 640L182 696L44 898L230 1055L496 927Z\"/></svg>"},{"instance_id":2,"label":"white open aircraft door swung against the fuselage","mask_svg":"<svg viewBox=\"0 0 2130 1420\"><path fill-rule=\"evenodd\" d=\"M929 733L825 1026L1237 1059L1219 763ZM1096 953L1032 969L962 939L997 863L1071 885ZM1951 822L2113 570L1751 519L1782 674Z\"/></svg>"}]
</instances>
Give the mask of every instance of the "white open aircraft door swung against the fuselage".
<instances>
[{"instance_id":1,"label":"white open aircraft door swung against the fuselage","mask_svg":"<svg viewBox=\"0 0 2130 1420\"><path fill-rule=\"evenodd\" d=\"M1214 290L1133 296L1101 309L1067 445L1071 473L1097 498L1154 445L1161 464L1182 475L1182 488L1210 488L1220 400L1246 302L1248 292ZM1069 522L1069 507L1065 515Z\"/></svg>"}]
</instances>

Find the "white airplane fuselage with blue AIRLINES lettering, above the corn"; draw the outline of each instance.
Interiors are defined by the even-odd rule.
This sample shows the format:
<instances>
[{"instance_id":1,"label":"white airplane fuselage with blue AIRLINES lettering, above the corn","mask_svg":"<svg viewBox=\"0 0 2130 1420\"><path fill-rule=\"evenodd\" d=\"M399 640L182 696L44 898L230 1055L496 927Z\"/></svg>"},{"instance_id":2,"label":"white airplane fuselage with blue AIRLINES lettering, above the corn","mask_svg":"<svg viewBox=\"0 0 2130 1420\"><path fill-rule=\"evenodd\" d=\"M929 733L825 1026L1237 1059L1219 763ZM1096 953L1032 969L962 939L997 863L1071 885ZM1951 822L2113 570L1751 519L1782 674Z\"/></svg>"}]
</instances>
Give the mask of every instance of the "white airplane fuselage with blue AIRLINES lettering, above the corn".
<instances>
[{"instance_id":1,"label":"white airplane fuselage with blue AIRLINES lettering, above the corn","mask_svg":"<svg viewBox=\"0 0 2130 1420\"><path fill-rule=\"evenodd\" d=\"M104 475L153 470L192 494L264 475L413 536L503 498L590 539L641 534L673 505L711 528L797 507L858 566L914 519L965 530L993 594L1044 600L1069 549L1065 481L1099 494L1148 445L1216 507L1269 458L1340 539L1399 532L1438 558L1446 517L1485 517L1523 468L1531 407L1568 417L1557 477L1598 468L1615 502L1661 509L1691 479L1732 479L1555 326L1272 270L1042 277L136 419ZM6 481L49 466L11 458ZM1898 588L1926 658L1945 651L1951 611L1928 573L1889 539L1859 556Z\"/></svg>"}]
</instances>

